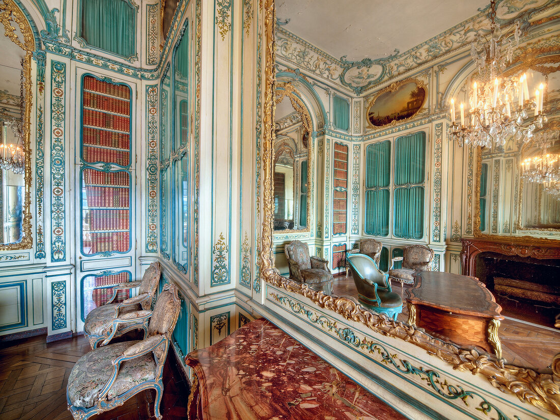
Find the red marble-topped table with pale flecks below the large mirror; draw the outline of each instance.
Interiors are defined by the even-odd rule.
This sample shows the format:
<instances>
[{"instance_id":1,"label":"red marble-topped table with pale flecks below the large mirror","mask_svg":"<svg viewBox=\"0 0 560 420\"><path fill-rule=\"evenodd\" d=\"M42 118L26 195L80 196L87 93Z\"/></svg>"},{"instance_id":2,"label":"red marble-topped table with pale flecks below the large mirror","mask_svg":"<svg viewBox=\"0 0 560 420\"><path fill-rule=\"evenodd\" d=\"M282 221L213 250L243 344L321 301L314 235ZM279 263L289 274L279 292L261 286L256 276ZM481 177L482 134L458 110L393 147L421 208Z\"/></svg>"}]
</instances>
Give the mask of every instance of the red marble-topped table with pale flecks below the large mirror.
<instances>
[{"instance_id":1,"label":"red marble-topped table with pale flecks below the large mirror","mask_svg":"<svg viewBox=\"0 0 560 420\"><path fill-rule=\"evenodd\" d=\"M264 319L185 357L197 375L204 420L404 420Z\"/></svg>"}]
</instances>

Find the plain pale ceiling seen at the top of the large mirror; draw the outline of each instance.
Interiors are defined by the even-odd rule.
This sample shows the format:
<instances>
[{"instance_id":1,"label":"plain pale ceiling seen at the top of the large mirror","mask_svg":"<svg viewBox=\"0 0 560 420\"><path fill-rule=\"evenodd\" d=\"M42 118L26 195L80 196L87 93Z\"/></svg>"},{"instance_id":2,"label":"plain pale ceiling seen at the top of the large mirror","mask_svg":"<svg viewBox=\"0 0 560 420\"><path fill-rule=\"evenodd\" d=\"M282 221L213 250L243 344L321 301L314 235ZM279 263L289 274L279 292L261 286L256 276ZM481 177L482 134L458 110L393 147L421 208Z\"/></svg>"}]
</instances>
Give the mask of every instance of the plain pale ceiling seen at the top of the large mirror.
<instances>
[{"instance_id":1,"label":"plain pale ceiling seen at the top of the large mirror","mask_svg":"<svg viewBox=\"0 0 560 420\"><path fill-rule=\"evenodd\" d=\"M347 60L403 53L477 15L488 0L281 0L286 30L324 52Z\"/></svg>"}]
</instances>

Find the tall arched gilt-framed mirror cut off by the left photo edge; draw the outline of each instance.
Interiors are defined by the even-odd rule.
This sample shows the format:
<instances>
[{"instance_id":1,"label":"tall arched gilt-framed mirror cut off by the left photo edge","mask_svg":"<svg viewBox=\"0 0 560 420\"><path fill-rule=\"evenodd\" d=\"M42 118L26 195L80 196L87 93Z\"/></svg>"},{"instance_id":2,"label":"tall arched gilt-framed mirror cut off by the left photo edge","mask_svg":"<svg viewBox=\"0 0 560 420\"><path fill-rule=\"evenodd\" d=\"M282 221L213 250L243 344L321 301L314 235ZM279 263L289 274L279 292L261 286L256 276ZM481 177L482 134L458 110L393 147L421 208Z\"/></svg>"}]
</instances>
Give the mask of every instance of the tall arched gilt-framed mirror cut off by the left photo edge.
<instances>
[{"instance_id":1,"label":"tall arched gilt-framed mirror cut off by the left photo edge","mask_svg":"<svg viewBox=\"0 0 560 420\"><path fill-rule=\"evenodd\" d=\"M0 3L0 250L32 246L30 186L31 26L12 0Z\"/></svg>"}]
</instances>

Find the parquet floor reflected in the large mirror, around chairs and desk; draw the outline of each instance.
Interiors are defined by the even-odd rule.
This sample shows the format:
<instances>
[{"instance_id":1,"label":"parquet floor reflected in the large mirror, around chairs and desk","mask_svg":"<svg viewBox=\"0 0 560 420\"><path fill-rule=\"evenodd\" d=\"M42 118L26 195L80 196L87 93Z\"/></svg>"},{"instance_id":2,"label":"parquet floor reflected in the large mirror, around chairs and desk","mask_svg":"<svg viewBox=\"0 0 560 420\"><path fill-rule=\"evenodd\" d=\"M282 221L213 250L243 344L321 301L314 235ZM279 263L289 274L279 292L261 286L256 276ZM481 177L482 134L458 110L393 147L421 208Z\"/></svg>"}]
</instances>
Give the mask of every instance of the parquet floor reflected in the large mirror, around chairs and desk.
<instances>
[{"instance_id":1,"label":"parquet floor reflected in the large mirror, around chairs and desk","mask_svg":"<svg viewBox=\"0 0 560 420\"><path fill-rule=\"evenodd\" d=\"M358 298L356 285L351 276L345 278L336 276L333 286L333 293L337 296L353 296ZM407 296L407 284L401 290L400 284L393 284L393 291L399 293L403 300ZM502 311L502 315L515 317ZM408 319L407 305L403 306L403 312L397 317L397 320L405 322ZM536 370L547 370L552 362L552 358L558 353L560 348L560 330L553 331L547 328L541 328L536 324L528 324L507 318L501 321L498 330L500 341L502 343L502 356L507 363L517 366L532 367Z\"/></svg>"}]
</instances>

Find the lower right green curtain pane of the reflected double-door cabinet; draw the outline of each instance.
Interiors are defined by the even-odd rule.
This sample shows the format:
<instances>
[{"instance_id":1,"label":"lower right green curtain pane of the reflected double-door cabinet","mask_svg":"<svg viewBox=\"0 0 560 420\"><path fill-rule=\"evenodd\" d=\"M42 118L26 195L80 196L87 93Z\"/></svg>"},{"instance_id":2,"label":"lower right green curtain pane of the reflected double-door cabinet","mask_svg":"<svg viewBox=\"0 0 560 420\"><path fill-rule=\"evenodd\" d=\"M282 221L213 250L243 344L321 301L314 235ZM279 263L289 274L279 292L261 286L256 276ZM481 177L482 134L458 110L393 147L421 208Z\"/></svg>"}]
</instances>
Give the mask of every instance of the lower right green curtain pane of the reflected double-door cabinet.
<instances>
[{"instance_id":1,"label":"lower right green curtain pane of the reflected double-door cabinet","mask_svg":"<svg viewBox=\"0 0 560 420\"><path fill-rule=\"evenodd\" d=\"M421 239L424 228L424 187L396 188L393 234L406 239Z\"/></svg>"}]
</instances>

